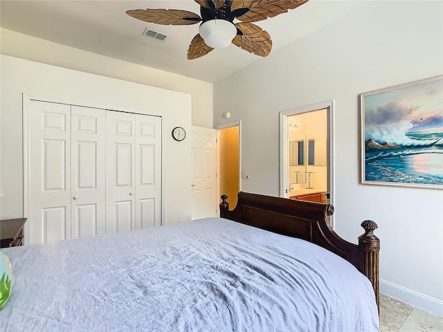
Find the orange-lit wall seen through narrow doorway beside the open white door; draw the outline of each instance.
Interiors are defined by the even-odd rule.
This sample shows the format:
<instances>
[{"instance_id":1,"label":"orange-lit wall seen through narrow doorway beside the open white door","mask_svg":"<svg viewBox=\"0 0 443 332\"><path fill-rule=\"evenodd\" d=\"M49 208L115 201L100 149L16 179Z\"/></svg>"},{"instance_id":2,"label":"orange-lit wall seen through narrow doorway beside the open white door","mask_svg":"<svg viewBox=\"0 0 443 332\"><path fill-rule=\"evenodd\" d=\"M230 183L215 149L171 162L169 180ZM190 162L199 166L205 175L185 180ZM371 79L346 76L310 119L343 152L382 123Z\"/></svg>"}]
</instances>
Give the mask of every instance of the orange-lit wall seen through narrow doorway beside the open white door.
<instances>
[{"instance_id":1,"label":"orange-lit wall seen through narrow doorway beside the open white door","mask_svg":"<svg viewBox=\"0 0 443 332\"><path fill-rule=\"evenodd\" d=\"M239 191L239 127L220 129L219 133L220 194L228 195L232 210Z\"/></svg>"}]
</instances>

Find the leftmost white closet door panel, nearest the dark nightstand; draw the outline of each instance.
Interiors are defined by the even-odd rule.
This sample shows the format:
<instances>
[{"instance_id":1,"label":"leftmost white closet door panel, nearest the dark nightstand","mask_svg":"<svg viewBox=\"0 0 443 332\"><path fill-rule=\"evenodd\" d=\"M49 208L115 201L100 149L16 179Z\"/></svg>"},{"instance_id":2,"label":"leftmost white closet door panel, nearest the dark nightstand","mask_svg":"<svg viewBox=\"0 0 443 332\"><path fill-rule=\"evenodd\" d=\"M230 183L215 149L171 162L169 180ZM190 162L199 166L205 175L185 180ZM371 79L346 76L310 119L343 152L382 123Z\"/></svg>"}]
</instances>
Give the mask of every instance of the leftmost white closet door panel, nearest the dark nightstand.
<instances>
[{"instance_id":1,"label":"leftmost white closet door panel, nearest the dark nightstand","mask_svg":"<svg viewBox=\"0 0 443 332\"><path fill-rule=\"evenodd\" d=\"M71 237L71 106L30 100L29 244Z\"/></svg>"}]
</instances>

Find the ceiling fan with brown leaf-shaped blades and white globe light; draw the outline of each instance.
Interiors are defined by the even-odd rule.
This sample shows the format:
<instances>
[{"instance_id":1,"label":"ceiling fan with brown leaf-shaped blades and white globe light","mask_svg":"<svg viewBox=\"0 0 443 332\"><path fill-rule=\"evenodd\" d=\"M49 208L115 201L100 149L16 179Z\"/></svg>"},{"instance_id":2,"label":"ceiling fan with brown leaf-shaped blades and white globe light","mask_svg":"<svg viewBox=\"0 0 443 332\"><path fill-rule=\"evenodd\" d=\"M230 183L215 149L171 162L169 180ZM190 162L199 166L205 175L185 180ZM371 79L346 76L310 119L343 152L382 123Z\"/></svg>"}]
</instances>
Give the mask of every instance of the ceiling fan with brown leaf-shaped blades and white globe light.
<instances>
[{"instance_id":1,"label":"ceiling fan with brown leaf-shaped blades and white globe light","mask_svg":"<svg viewBox=\"0 0 443 332\"><path fill-rule=\"evenodd\" d=\"M179 9L127 10L127 15L141 21L185 26L200 24L199 33L188 48L188 59L197 59L214 48L227 47L231 42L249 53L266 57L272 48L269 33L251 22L274 17L294 9L308 0L195 0L201 17ZM234 19L240 22L234 24Z\"/></svg>"}]
</instances>

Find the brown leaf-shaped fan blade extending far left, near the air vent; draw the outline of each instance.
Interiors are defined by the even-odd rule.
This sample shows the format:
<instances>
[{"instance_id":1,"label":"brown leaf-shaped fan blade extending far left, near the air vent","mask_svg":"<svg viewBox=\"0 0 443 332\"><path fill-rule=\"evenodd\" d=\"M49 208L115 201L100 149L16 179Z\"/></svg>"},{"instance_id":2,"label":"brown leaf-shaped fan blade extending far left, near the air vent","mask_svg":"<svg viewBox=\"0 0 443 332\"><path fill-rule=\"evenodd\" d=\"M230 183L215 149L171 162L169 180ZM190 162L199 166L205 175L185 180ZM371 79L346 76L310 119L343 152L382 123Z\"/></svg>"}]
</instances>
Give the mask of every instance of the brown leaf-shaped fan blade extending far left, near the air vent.
<instances>
[{"instance_id":1,"label":"brown leaf-shaped fan blade extending far left, near the air vent","mask_svg":"<svg viewBox=\"0 0 443 332\"><path fill-rule=\"evenodd\" d=\"M179 9L136 9L128 10L126 13L141 21L165 26L187 26L201 21L201 17L194 12Z\"/></svg>"}]
</instances>

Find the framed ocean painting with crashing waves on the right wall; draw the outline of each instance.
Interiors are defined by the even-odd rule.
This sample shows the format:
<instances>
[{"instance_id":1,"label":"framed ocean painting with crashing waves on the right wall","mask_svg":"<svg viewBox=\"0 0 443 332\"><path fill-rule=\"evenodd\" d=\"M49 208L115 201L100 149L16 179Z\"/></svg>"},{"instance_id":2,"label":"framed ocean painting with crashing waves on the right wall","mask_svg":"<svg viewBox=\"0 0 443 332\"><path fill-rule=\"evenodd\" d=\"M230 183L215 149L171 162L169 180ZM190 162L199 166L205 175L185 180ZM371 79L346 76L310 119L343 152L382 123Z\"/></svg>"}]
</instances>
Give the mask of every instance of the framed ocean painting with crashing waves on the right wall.
<instances>
[{"instance_id":1,"label":"framed ocean painting with crashing waves on the right wall","mask_svg":"<svg viewBox=\"0 0 443 332\"><path fill-rule=\"evenodd\" d=\"M361 182L443 188L443 75L360 95Z\"/></svg>"}]
</instances>

